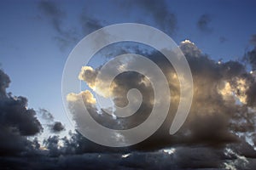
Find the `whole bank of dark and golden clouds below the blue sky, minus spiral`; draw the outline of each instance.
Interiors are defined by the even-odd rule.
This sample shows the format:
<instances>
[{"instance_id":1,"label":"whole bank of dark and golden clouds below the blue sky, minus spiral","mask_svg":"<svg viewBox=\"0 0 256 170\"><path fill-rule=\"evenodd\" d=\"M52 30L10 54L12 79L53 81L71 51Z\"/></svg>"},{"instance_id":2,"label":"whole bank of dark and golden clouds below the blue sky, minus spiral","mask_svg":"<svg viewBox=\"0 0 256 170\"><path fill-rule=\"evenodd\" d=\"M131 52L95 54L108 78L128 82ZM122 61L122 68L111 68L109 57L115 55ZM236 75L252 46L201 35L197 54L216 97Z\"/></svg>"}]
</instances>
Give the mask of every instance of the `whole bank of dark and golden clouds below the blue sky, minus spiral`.
<instances>
[{"instance_id":1,"label":"whole bank of dark and golden clouds below the blue sky, minus spiral","mask_svg":"<svg viewBox=\"0 0 256 170\"><path fill-rule=\"evenodd\" d=\"M145 52L137 47L134 51L147 55L164 72L172 94L171 108L166 122L154 135L127 148L101 146L85 139L79 132L70 132L63 138L52 134L43 143L38 142L37 138L27 139L28 136L42 132L42 125L35 111L27 109L26 98L6 93L10 80L0 71L1 166L42 169L253 169L256 163L256 152L253 149L256 143L254 75L247 71L243 63L216 62L210 59L189 40L181 42L179 47L188 59L194 78L195 94L189 117L178 133L173 136L169 134L170 122L179 101L177 74L162 54L156 51ZM131 61L121 62L119 69L130 65ZM125 129L135 127L147 119L154 100L149 79L128 71L116 77L108 89L104 86L108 77L95 82L100 69L90 66L81 68L78 78L91 89L67 95L73 120L83 123L83 113L79 111L84 105L90 115L106 127ZM143 94L143 103L134 116L128 119L110 116L97 106L96 93L103 96L108 94L108 97L110 95L116 105L126 105L125 96L131 88L137 88ZM109 93L106 93L107 90ZM40 109L38 116L48 122L51 132L58 133L65 129L49 111ZM121 133L115 138L125 141ZM32 157L29 158L31 163L28 163L28 157Z\"/></svg>"}]
</instances>

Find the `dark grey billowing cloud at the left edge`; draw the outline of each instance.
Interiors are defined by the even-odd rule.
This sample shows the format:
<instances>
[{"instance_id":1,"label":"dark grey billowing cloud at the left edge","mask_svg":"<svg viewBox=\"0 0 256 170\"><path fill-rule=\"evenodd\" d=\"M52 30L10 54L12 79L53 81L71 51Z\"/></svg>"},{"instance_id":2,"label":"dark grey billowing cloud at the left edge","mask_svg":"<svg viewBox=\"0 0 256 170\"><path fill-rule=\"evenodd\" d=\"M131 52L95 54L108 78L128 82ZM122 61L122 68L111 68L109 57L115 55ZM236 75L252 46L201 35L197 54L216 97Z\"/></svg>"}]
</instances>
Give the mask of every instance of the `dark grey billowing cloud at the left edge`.
<instances>
[{"instance_id":1,"label":"dark grey billowing cloud at the left edge","mask_svg":"<svg viewBox=\"0 0 256 170\"><path fill-rule=\"evenodd\" d=\"M43 130L36 112L27 109L27 99L6 93L10 79L0 70L0 155L15 155L32 148L27 136Z\"/></svg>"}]
</instances>

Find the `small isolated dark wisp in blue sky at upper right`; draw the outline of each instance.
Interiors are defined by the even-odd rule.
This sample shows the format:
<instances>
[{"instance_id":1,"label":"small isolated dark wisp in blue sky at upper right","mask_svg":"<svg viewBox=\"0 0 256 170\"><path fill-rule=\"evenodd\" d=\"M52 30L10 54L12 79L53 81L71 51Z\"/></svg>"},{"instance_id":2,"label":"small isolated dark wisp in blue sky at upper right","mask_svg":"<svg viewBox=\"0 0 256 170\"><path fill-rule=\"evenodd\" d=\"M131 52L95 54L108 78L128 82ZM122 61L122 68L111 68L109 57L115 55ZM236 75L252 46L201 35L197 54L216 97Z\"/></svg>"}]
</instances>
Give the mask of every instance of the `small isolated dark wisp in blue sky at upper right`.
<instances>
[{"instance_id":1,"label":"small isolated dark wisp in blue sky at upper right","mask_svg":"<svg viewBox=\"0 0 256 170\"><path fill-rule=\"evenodd\" d=\"M209 26L212 22L212 17L210 14L202 14L196 23L197 28L203 32L212 32L212 27Z\"/></svg>"}]
</instances>

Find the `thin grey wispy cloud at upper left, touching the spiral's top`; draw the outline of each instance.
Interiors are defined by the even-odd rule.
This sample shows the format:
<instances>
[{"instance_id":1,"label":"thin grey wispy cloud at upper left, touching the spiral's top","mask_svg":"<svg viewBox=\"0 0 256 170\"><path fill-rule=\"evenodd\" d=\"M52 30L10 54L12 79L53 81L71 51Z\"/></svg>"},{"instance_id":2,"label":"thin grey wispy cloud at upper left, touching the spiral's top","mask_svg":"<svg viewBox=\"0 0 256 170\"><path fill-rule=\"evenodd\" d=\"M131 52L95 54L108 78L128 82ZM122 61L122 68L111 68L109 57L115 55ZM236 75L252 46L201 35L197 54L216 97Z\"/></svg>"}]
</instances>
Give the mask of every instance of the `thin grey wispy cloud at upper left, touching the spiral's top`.
<instances>
[{"instance_id":1,"label":"thin grey wispy cloud at upper left, touching the spiral's top","mask_svg":"<svg viewBox=\"0 0 256 170\"><path fill-rule=\"evenodd\" d=\"M54 28L56 32L54 39L58 42L61 50L74 46L82 37L102 27L100 20L96 20L85 11L81 11L80 14L79 27L82 29L68 26L66 24L67 12L60 3L41 1L38 3L38 8Z\"/></svg>"}]
</instances>

